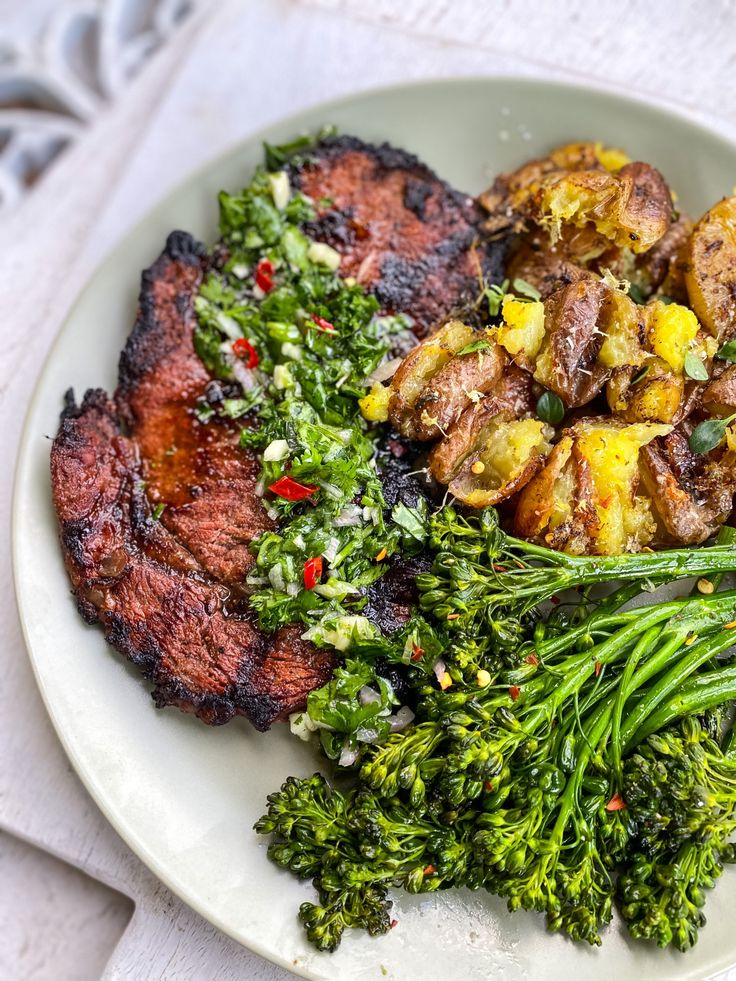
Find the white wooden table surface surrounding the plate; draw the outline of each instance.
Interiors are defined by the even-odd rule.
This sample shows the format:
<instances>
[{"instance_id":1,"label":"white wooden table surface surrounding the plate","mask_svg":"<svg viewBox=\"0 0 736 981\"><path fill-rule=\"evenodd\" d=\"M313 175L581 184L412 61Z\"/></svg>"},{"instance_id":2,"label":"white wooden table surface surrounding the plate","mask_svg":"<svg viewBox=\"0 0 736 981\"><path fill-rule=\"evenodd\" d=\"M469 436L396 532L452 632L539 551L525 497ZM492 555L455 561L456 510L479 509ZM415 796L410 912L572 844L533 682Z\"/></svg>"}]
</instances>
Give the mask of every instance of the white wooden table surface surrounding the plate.
<instances>
[{"instance_id":1,"label":"white wooden table surface surrounding the plate","mask_svg":"<svg viewBox=\"0 0 736 981\"><path fill-rule=\"evenodd\" d=\"M463 74L572 78L736 133L734 28L732 0L199 0L175 38L0 225L0 922L14 924L0 945L0 978L290 977L184 906L107 824L61 750L21 639L5 541L12 461L40 363L100 257L163 192L249 132L377 84ZM134 904L105 967L102 952L130 904L102 887L91 898L96 887L68 866ZM97 943L75 963L82 935ZM72 967L62 971L62 961Z\"/></svg>"}]
</instances>

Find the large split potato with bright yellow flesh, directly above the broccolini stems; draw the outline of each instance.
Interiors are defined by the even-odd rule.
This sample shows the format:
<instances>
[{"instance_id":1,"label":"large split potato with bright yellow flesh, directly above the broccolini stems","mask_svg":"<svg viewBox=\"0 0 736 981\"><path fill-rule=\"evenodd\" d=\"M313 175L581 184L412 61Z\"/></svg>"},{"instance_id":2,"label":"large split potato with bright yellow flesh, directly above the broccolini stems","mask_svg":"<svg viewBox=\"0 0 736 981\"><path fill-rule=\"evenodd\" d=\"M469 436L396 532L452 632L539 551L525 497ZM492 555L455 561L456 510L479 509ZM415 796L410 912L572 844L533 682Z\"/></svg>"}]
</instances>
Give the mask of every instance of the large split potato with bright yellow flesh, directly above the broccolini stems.
<instances>
[{"instance_id":1,"label":"large split potato with bright yellow flesh, directly above the broccolini stems","mask_svg":"<svg viewBox=\"0 0 736 981\"><path fill-rule=\"evenodd\" d=\"M638 551L656 526L637 495L639 451L669 426L582 419L566 430L516 509L517 534L574 554Z\"/></svg>"}]
</instances>

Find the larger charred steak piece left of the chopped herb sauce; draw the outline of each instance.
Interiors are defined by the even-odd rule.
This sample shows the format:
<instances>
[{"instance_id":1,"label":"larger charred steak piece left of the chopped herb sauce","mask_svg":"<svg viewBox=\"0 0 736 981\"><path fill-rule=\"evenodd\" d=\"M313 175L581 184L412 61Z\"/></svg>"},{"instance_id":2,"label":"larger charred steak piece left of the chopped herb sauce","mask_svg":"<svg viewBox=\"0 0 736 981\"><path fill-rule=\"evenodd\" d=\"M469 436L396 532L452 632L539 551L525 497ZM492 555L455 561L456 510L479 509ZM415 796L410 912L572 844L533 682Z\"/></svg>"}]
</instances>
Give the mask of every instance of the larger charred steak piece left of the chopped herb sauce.
<instances>
[{"instance_id":1,"label":"larger charred steak piece left of the chopped herb sauce","mask_svg":"<svg viewBox=\"0 0 736 981\"><path fill-rule=\"evenodd\" d=\"M301 627L260 633L237 597L248 543L268 521L237 429L194 415L210 380L192 346L202 268L201 247L174 233L144 274L115 401L91 391L62 418L54 505L80 612L154 683L156 704L267 729L303 706L334 660ZM152 500L166 504L159 521Z\"/></svg>"}]
</instances>

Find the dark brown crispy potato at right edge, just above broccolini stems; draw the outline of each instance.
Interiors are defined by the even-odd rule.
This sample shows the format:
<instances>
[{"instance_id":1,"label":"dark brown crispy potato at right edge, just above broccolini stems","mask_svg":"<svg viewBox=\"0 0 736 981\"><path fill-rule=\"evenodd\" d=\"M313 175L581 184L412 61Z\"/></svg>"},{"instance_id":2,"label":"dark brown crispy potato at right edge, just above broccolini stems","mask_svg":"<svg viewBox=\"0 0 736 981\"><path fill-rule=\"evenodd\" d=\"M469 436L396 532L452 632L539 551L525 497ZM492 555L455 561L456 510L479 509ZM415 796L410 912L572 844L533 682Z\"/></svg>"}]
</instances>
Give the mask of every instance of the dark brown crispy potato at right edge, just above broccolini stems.
<instances>
[{"instance_id":1,"label":"dark brown crispy potato at right edge, just above broccolini stems","mask_svg":"<svg viewBox=\"0 0 736 981\"><path fill-rule=\"evenodd\" d=\"M641 452L642 482L656 509L662 544L697 545L715 534L733 507L736 447L693 454L689 427L678 427Z\"/></svg>"}]
</instances>

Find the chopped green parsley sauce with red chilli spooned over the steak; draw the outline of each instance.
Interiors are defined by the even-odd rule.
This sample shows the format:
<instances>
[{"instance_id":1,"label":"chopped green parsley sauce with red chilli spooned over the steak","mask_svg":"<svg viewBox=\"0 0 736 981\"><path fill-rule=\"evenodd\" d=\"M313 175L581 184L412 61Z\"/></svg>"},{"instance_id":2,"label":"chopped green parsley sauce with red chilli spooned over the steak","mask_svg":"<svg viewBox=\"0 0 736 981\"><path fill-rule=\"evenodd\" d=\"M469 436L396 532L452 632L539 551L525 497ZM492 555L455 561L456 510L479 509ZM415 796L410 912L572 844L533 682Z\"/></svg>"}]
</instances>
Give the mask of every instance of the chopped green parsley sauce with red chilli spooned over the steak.
<instances>
[{"instance_id":1,"label":"chopped green parsley sauce with red chilli spooned over the steak","mask_svg":"<svg viewBox=\"0 0 736 981\"><path fill-rule=\"evenodd\" d=\"M306 147L270 147L268 161ZM285 171L259 170L219 202L221 259L195 302L195 347L216 377L243 387L218 412L244 419L241 445L261 456L258 486L276 523L253 543L250 600L266 630L313 627L357 613L386 560L426 538L426 509L387 509L375 431L358 406L410 322L379 316L377 300L337 274L339 255L307 238L314 208Z\"/></svg>"}]
</instances>

